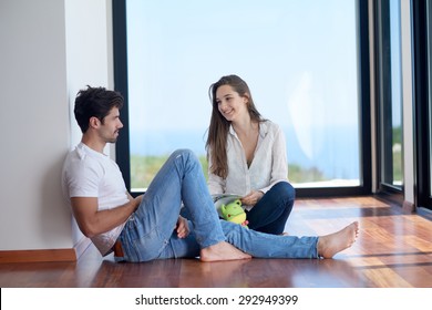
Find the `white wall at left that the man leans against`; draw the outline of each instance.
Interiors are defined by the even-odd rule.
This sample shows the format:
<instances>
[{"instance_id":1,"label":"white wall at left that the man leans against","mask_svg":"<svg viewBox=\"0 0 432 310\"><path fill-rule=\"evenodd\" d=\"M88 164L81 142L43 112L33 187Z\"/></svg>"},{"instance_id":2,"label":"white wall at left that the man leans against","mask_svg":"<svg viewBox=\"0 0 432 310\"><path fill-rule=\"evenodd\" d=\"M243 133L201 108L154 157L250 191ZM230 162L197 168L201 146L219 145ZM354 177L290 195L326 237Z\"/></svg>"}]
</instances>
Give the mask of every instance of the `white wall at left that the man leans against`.
<instances>
[{"instance_id":1,"label":"white wall at left that the man leans against","mask_svg":"<svg viewBox=\"0 0 432 310\"><path fill-rule=\"evenodd\" d=\"M110 86L106 0L0 0L0 250L71 248L61 195L79 89Z\"/></svg>"}]
</instances>

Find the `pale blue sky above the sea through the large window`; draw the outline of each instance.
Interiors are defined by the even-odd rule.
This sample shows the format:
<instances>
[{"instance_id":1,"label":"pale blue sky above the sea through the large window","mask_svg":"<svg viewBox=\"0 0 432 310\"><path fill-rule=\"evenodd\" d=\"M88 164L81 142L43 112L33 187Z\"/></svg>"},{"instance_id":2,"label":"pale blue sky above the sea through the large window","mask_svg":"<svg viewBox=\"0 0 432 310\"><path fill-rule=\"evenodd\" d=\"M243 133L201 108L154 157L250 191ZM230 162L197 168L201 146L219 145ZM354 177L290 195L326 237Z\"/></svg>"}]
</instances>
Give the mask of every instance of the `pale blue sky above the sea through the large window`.
<instances>
[{"instance_id":1,"label":"pale blue sky above the sea through the large window","mask_svg":"<svg viewBox=\"0 0 432 310\"><path fill-rule=\"evenodd\" d=\"M128 0L127 9L133 126L207 127L208 87L230 73L277 123L317 111L319 125L327 110L344 112L333 123L357 121L354 1ZM291 115L300 97L313 106Z\"/></svg>"}]
</instances>

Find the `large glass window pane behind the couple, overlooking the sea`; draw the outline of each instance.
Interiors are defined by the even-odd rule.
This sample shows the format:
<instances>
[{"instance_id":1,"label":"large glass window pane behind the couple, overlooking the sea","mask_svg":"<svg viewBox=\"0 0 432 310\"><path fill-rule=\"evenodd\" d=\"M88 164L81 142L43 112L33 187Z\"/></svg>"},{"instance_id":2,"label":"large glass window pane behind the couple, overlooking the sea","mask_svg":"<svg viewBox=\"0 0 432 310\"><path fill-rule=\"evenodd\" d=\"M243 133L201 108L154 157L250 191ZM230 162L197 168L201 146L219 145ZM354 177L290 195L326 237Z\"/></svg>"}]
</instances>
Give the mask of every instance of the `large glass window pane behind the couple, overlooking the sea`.
<instances>
[{"instance_id":1,"label":"large glass window pane behind the couple, overlooking the sea","mask_svg":"<svg viewBox=\"0 0 432 310\"><path fill-rule=\"evenodd\" d=\"M128 0L133 190L175 148L207 170L208 87L226 74L284 128L295 186L359 186L356 20L356 0Z\"/></svg>"}]
</instances>

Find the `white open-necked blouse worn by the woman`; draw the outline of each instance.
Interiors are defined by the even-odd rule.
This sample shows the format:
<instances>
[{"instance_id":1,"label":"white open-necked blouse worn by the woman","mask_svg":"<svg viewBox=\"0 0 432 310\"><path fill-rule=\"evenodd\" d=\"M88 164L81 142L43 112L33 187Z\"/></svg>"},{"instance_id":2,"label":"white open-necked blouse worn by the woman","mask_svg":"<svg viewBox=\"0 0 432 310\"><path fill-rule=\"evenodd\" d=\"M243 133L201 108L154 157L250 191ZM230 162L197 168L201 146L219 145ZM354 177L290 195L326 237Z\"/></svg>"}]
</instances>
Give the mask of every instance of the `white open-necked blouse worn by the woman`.
<instances>
[{"instance_id":1,"label":"white open-necked blouse worn by the woman","mask_svg":"<svg viewBox=\"0 0 432 310\"><path fill-rule=\"evenodd\" d=\"M251 190L266 193L278 182L288 182L288 162L284 132L265 121L259 124L258 144L250 166L247 166L245 151L233 126L227 138L228 176L226 179L208 169L210 194L247 195ZM212 166L212 158L209 165Z\"/></svg>"}]
</instances>

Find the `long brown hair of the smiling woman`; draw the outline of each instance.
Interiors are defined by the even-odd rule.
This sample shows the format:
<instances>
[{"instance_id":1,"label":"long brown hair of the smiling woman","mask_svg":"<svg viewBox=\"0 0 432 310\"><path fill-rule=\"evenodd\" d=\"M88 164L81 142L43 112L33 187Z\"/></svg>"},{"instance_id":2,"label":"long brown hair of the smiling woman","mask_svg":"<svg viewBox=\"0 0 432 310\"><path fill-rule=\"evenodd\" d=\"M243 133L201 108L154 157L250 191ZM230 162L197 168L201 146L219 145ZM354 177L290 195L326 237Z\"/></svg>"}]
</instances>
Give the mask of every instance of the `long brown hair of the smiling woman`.
<instances>
[{"instance_id":1,"label":"long brown hair of the smiling woman","mask_svg":"<svg viewBox=\"0 0 432 310\"><path fill-rule=\"evenodd\" d=\"M207 161L209 157L212 157L212 164L209 163L210 173L222 178L226 178L228 175L226 144L230 122L220 114L218 104L216 102L216 91L223 85L232 86L233 91L238 93L240 96L246 96L248 99L247 110L253 122L259 123L264 120L258 110L255 107L249 86L239 76L234 74L223 76L208 89L208 96L210 99L213 111L206 142Z\"/></svg>"}]
</instances>

